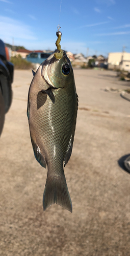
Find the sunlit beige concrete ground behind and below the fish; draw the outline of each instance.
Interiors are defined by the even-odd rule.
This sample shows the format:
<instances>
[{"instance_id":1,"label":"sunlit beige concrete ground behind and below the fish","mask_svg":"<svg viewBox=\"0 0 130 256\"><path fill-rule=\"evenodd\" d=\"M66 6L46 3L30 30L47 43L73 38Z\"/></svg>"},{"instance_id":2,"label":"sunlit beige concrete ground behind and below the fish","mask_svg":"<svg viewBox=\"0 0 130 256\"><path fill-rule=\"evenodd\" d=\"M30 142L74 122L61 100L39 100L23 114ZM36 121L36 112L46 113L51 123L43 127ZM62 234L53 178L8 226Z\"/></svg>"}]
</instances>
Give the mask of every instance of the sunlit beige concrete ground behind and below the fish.
<instances>
[{"instance_id":1,"label":"sunlit beige concrete ground behind and below the fish","mask_svg":"<svg viewBox=\"0 0 130 256\"><path fill-rule=\"evenodd\" d=\"M31 71L15 71L13 102L0 139L2 256L130 255L130 174L118 160L130 154L130 102L112 71L74 70L79 111L65 176L72 214L43 212L47 169L36 161L26 115Z\"/></svg>"}]
</instances>

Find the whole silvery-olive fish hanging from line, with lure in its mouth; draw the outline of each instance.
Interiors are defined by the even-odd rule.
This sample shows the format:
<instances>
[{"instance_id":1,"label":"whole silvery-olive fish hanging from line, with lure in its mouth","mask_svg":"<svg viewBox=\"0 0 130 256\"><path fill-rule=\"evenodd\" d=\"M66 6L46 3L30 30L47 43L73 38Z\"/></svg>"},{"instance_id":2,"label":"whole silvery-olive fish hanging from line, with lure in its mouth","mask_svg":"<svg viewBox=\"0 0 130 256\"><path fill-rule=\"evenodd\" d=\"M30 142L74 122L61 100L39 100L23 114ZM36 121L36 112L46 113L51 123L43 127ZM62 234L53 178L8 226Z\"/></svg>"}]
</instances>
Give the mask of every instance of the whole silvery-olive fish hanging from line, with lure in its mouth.
<instances>
[{"instance_id":1,"label":"whole silvery-olive fish hanging from line, with lure in its mouth","mask_svg":"<svg viewBox=\"0 0 130 256\"><path fill-rule=\"evenodd\" d=\"M78 100L71 62L60 47L60 31L57 36L57 50L33 71L27 115L34 155L48 167L43 209L57 203L72 212L63 165L72 152Z\"/></svg>"}]
</instances>

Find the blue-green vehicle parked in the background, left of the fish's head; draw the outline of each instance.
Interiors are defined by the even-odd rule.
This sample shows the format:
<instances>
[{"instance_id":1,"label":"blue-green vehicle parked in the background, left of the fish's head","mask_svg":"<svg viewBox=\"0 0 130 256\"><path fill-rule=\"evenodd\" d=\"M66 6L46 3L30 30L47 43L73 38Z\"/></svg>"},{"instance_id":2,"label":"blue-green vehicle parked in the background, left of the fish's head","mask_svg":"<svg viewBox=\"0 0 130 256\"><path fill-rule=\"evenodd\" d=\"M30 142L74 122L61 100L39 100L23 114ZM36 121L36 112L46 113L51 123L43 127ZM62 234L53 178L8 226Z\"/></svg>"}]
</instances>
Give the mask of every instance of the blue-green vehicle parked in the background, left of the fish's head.
<instances>
[{"instance_id":1,"label":"blue-green vehicle parked in the background, left of the fish's head","mask_svg":"<svg viewBox=\"0 0 130 256\"><path fill-rule=\"evenodd\" d=\"M39 63L41 64L45 59L47 59L49 57L49 55L52 54L52 52L50 53L44 53L44 52L31 52L28 56L27 56L27 60L32 62L32 63Z\"/></svg>"}]
</instances>

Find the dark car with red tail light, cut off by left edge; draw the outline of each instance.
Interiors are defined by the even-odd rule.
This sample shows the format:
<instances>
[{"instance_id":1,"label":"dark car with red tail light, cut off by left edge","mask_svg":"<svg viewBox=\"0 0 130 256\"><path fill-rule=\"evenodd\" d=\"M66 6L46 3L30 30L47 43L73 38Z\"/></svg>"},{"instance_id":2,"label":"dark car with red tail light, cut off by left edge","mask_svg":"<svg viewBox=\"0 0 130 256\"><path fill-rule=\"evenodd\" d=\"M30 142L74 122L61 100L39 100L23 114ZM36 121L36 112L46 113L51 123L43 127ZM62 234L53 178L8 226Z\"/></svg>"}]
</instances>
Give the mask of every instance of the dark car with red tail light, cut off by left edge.
<instances>
[{"instance_id":1,"label":"dark car with red tail light, cut off by left edge","mask_svg":"<svg viewBox=\"0 0 130 256\"><path fill-rule=\"evenodd\" d=\"M12 88L14 66L9 61L9 51L0 39L0 136L4 126L5 114L12 102Z\"/></svg>"}]
</instances>

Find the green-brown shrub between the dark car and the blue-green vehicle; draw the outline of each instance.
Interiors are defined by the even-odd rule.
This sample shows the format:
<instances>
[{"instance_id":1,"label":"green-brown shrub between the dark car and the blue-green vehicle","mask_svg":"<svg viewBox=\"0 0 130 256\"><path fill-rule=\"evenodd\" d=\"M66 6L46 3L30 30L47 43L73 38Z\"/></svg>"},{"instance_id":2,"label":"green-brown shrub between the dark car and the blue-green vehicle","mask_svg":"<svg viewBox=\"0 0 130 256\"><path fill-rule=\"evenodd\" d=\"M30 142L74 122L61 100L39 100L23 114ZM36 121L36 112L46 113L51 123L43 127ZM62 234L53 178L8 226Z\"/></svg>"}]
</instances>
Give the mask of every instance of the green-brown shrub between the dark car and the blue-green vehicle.
<instances>
[{"instance_id":1,"label":"green-brown shrub between the dark car and the blue-green vehicle","mask_svg":"<svg viewBox=\"0 0 130 256\"><path fill-rule=\"evenodd\" d=\"M21 55L11 57L11 62L14 64L15 69L33 69L33 64L25 59L22 59Z\"/></svg>"}]
</instances>

